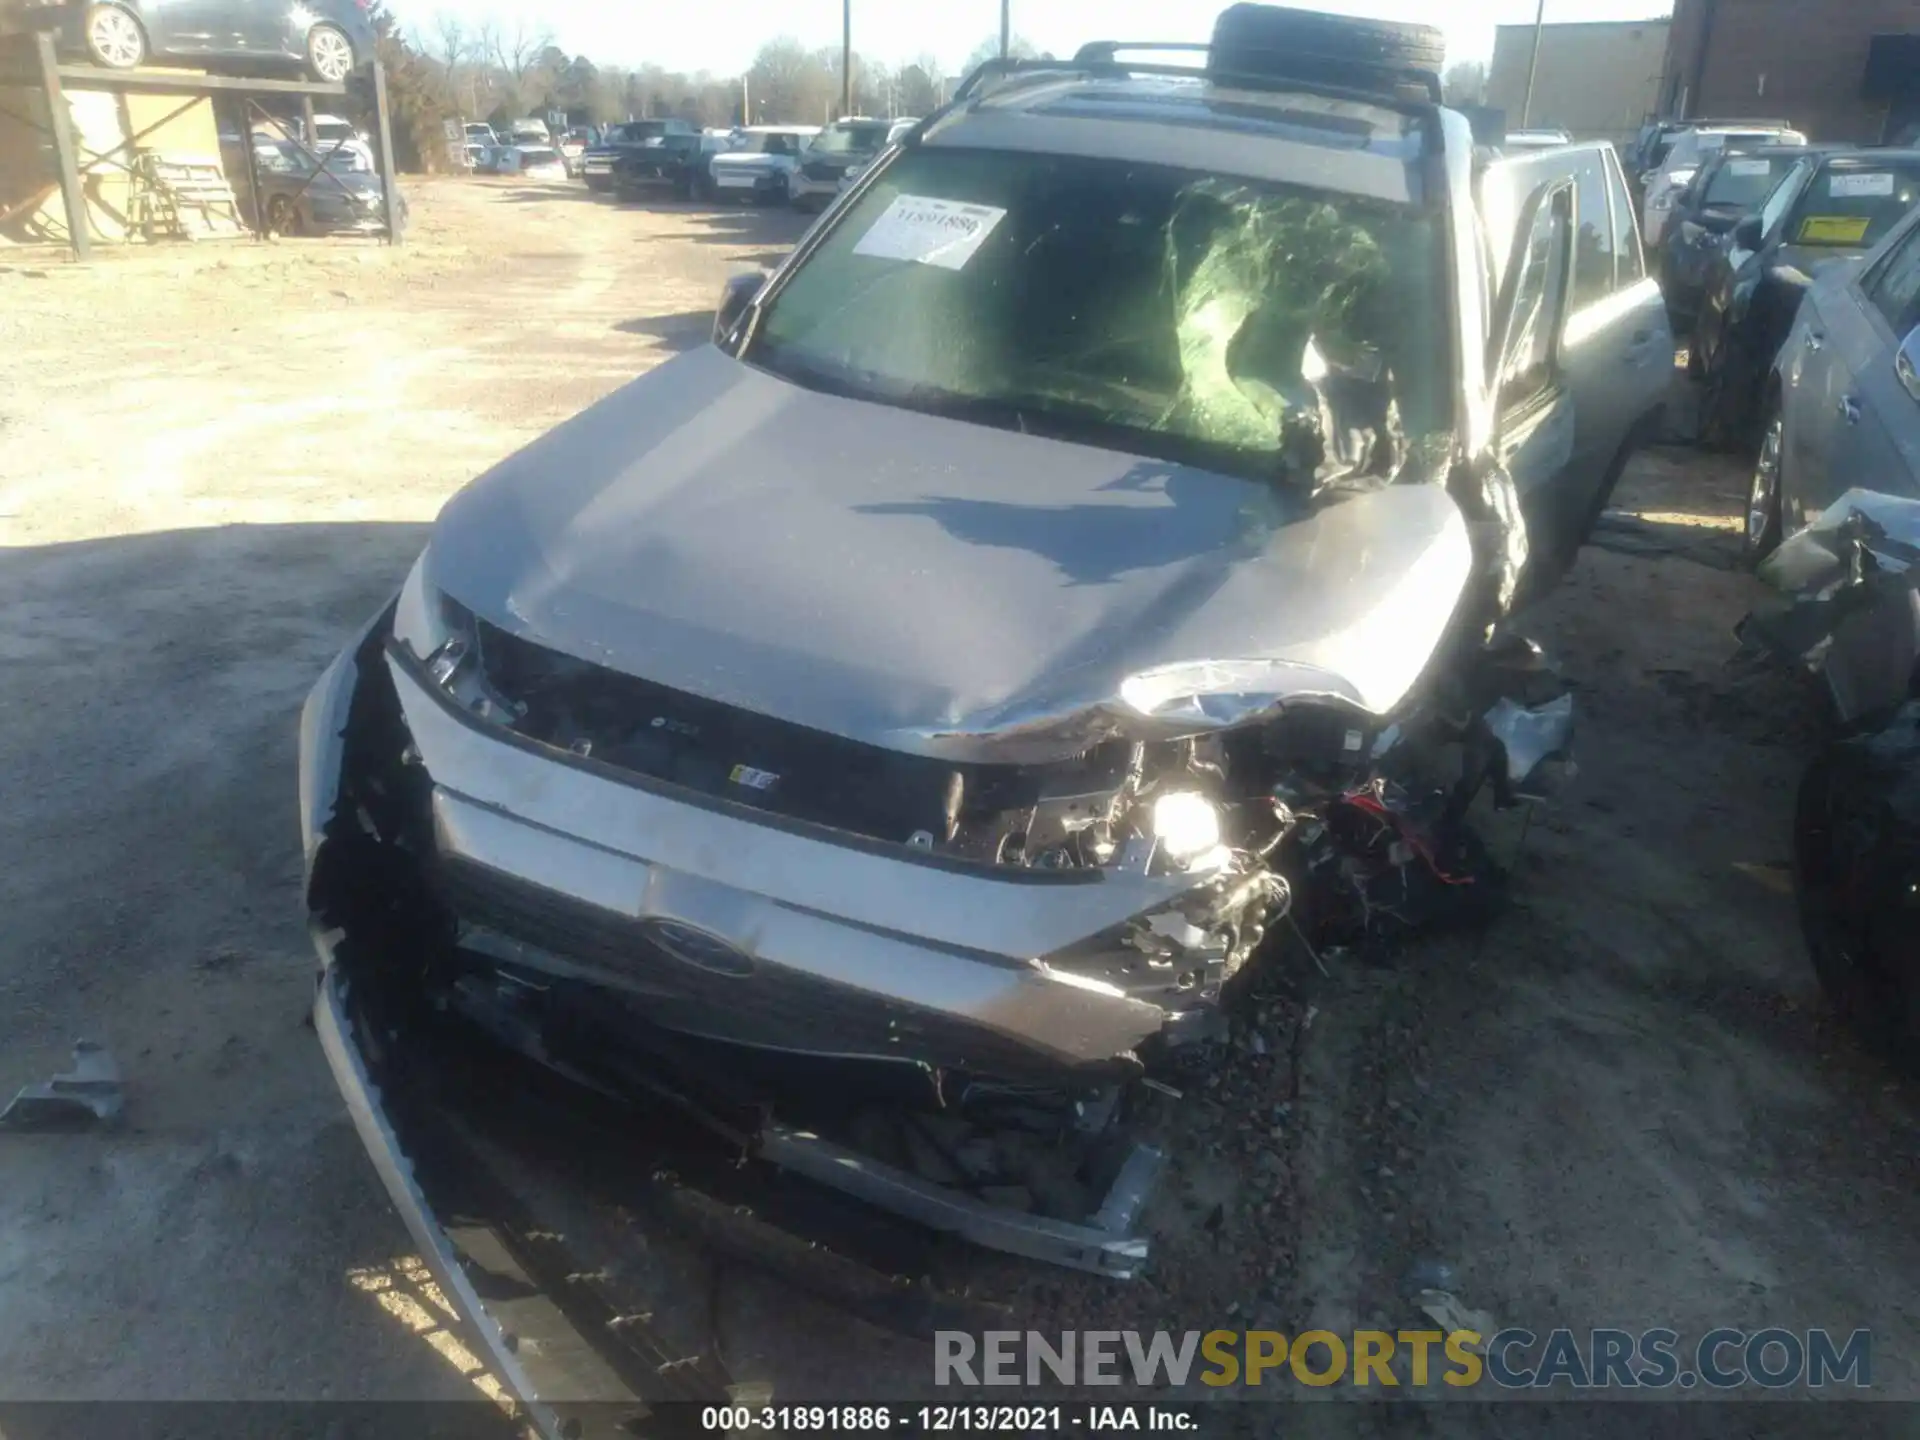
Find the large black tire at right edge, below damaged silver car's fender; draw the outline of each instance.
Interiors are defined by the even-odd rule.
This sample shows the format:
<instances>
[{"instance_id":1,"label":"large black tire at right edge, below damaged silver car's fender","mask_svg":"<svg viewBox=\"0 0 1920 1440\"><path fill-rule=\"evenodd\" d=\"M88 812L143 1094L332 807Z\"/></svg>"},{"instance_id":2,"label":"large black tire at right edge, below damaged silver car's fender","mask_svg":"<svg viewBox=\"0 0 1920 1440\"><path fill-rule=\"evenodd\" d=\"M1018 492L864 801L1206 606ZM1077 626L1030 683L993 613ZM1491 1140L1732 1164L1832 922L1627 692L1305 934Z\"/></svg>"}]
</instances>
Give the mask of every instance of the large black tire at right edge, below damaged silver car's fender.
<instances>
[{"instance_id":1,"label":"large black tire at right edge, below damaged silver car's fender","mask_svg":"<svg viewBox=\"0 0 1920 1440\"><path fill-rule=\"evenodd\" d=\"M1820 987L1884 1058L1920 1073L1920 714L1841 739L1801 778L1793 899Z\"/></svg>"}]
</instances>

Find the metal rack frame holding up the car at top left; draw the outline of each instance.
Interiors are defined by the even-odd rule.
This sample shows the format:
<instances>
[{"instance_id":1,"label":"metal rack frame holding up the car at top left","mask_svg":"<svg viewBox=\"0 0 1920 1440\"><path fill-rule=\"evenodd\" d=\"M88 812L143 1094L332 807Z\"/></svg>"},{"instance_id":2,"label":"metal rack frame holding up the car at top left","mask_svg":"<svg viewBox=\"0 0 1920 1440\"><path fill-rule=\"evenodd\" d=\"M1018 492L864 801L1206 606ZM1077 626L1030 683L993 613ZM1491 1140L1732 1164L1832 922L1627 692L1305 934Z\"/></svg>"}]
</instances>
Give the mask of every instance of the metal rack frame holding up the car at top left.
<instances>
[{"instance_id":1,"label":"metal rack frame holding up the car at top left","mask_svg":"<svg viewBox=\"0 0 1920 1440\"><path fill-rule=\"evenodd\" d=\"M321 100L346 100L349 96L361 94L361 84L371 88L372 113L374 113L374 173L380 177L382 190L382 211L386 219L386 238L388 244L401 244L403 221L399 213L399 190L394 184L394 127L386 104L386 69L374 60L369 65L367 81L346 81L346 83L326 83L326 81L275 81L275 79L255 79L246 75L192 75L186 71L173 69L108 69L104 65L86 65L65 61L54 52L54 38L48 33L17 36L15 44L8 46L8 60L13 63L0 65L0 84L19 84L27 88L38 88L46 100L48 123L44 129L54 144L54 165L60 171L60 194L67 211L67 238L73 248L75 259L88 259L92 253L92 225L86 217L86 192L81 184L81 157L79 146L73 138L73 117L67 111L67 90L106 90L111 94L175 94L184 96L188 104L202 98L213 96L236 96L246 102L246 129L242 132L242 144L246 148L248 165L248 194L253 205L253 232L255 238L265 238L267 223L259 198L259 175L253 163L253 113L261 108L255 104L261 96L300 96L301 108L305 111L307 129L305 150L315 159L315 175L309 177L307 184L326 171L324 156L319 156L311 148L313 140L313 102ZM25 61L25 63L21 63ZM265 115L265 111L261 111ZM171 117L169 117L171 119ZM267 119L275 119L267 115ZM157 125L165 125L159 121ZM148 131L157 129L150 125ZM131 150L142 134L129 136L113 150ZM344 144L344 142L340 142ZM334 146L334 150L340 148ZM94 156L92 159L111 157L113 152ZM119 163L119 161L115 161ZM305 188L305 186L301 186Z\"/></svg>"}]
</instances>

